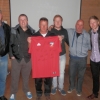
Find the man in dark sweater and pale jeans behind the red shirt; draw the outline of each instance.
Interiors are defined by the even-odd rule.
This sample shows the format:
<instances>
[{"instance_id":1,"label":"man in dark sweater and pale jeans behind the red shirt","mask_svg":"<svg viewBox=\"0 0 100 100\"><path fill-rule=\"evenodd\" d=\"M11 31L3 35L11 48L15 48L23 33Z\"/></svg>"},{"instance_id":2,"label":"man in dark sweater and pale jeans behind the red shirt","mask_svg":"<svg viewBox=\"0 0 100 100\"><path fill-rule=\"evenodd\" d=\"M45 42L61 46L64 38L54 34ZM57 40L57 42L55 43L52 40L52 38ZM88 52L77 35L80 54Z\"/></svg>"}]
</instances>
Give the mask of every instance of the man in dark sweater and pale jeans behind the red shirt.
<instances>
[{"instance_id":1,"label":"man in dark sweater and pale jeans behind the red shirt","mask_svg":"<svg viewBox=\"0 0 100 100\"><path fill-rule=\"evenodd\" d=\"M60 15L55 15L53 21L54 21L54 27L51 29L51 32L54 32L56 35L62 36L62 43L61 43L62 52L60 53L59 56L60 76L53 78L52 82L53 88L51 94L54 95L56 93L58 85L58 90L60 91L60 93L62 95L66 95L66 92L63 89L64 88L63 84L64 84L65 63L66 63L65 43L68 44L68 33L67 30L62 27L63 18Z\"/></svg>"}]
</instances>

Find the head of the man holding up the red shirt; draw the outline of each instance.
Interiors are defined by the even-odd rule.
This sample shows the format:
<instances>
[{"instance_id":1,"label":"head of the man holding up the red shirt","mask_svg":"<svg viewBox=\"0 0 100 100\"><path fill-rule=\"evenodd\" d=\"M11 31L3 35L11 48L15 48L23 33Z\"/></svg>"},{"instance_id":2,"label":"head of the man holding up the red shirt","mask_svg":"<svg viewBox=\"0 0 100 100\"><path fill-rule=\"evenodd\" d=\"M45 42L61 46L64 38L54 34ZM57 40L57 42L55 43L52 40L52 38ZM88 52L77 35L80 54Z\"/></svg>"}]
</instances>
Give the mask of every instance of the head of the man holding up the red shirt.
<instances>
[{"instance_id":1,"label":"head of the man holding up the red shirt","mask_svg":"<svg viewBox=\"0 0 100 100\"><path fill-rule=\"evenodd\" d=\"M47 33L48 31L48 19L45 17L40 18L39 20L39 28L42 34Z\"/></svg>"}]
</instances>

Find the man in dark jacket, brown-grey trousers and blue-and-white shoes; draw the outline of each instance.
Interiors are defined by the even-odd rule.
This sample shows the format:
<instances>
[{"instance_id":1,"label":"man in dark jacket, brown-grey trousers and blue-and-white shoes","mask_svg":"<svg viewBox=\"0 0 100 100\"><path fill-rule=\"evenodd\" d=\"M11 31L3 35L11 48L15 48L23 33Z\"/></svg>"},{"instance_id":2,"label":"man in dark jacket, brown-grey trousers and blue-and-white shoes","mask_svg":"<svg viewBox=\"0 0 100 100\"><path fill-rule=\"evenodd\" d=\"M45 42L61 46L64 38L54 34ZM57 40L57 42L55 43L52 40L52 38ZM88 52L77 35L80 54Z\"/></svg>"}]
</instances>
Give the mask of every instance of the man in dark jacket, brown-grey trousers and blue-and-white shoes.
<instances>
[{"instance_id":1,"label":"man in dark jacket, brown-grey trousers and blue-and-white shoes","mask_svg":"<svg viewBox=\"0 0 100 100\"><path fill-rule=\"evenodd\" d=\"M28 53L27 38L32 36L34 30L28 25L28 17L25 14L21 14L18 21L19 25L11 29L10 38L9 54L12 59L10 100L15 100L20 73L23 79L23 91L28 99L32 98L28 87L31 62L30 54Z\"/></svg>"}]
</instances>

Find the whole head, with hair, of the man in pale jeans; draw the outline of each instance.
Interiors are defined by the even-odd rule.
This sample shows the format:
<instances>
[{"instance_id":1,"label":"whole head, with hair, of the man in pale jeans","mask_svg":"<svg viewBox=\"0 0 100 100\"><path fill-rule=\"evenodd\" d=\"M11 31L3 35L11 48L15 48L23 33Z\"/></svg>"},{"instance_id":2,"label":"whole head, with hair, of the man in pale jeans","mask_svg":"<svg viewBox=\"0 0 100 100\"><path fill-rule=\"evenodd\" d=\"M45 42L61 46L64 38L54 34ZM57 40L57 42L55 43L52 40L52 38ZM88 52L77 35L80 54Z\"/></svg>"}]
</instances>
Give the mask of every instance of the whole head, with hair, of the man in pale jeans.
<instances>
[{"instance_id":1,"label":"whole head, with hair, of the man in pale jeans","mask_svg":"<svg viewBox=\"0 0 100 100\"><path fill-rule=\"evenodd\" d=\"M53 18L54 27L58 29L61 28L62 21L63 21L63 18L60 15L55 15Z\"/></svg>"}]
</instances>

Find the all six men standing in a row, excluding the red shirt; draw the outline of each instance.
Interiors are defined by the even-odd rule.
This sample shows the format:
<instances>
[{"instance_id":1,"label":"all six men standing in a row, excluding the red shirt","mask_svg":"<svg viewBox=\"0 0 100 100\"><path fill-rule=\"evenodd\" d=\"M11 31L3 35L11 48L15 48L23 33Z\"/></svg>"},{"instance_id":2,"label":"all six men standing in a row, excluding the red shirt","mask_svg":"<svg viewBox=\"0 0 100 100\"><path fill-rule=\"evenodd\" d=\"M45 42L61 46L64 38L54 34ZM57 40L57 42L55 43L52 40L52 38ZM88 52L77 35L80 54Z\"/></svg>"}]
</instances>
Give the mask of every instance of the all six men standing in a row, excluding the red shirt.
<instances>
[{"instance_id":1,"label":"all six men standing in a row, excluding the red shirt","mask_svg":"<svg viewBox=\"0 0 100 100\"><path fill-rule=\"evenodd\" d=\"M0 10L0 100L7 100L4 96L8 53L11 58L11 96L10 100L16 99L18 90L18 82L20 73L23 80L23 91L28 99L32 98L29 90L28 82L31 72L31 55L28 53L31 37L41 36L58 36L61 42L62 51L59 54L59 70L60 75L57 77L47 77L44 79L44 95L46 100L51 100L50 93L56 94L56 91L62 95L66 95L64 90L64 72L66 64L66 48L65 43L69 46L69 89L71 93L76 89L77 96L81 96L82 83L87 64L88 50L91 50L90 65L93 77L93 93L87 98L98 98L99 92L99 72L100 72L100 27L99 19L92 16L89 19L91 30L87 33L84 30L84 21L78 20L75 29L64 29L62 26L63 18L55 15L53 25L48 30L48 19L42 17L39 20L39 31L35 33L28 25L28 17L21 14L18 18L19 24L14 28L10 28L2 22L2 11ZM29 37L29 38L28 38ZM9 48L9 49L8 49ZM77 76L77 82L76 82ZM35 87L37 100L41 100L43 78L35 79ZM75 84L76 83L76 84Z\"/></svg>"}]
</instances>

